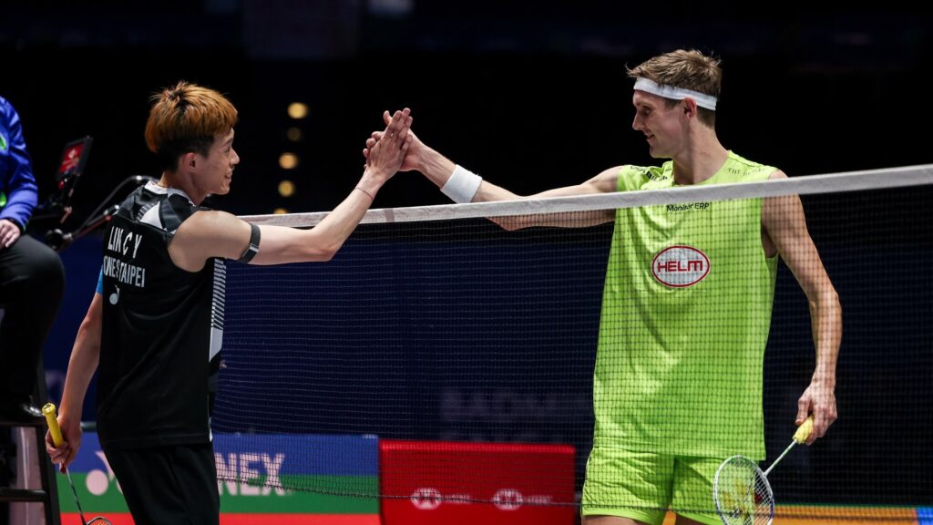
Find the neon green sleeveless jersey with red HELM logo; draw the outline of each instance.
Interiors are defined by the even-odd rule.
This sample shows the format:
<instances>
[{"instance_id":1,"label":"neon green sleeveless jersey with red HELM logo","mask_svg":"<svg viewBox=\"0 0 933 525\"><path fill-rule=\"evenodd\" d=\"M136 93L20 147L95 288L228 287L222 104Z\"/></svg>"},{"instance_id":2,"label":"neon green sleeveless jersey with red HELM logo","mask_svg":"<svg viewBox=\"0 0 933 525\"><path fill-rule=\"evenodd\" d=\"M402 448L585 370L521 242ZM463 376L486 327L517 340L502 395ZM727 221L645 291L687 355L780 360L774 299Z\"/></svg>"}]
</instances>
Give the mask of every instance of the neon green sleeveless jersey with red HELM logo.
<instances>
[{"instance_id":1,"label":"neon green sleeveless jersey with red HELM logo","mask_svg":"<svg viewBox=\"0 0 933 525\"><path fill-rule=\"evenodd\" d=\"M700 184L767 179L730 152ZM671 188L673 163L625 166L621 192ZM678 456L764 459L762 362L777 257L761 200L616 212L593 385L593 444Z\"/></svg>"}]
</instances>

